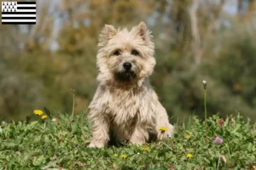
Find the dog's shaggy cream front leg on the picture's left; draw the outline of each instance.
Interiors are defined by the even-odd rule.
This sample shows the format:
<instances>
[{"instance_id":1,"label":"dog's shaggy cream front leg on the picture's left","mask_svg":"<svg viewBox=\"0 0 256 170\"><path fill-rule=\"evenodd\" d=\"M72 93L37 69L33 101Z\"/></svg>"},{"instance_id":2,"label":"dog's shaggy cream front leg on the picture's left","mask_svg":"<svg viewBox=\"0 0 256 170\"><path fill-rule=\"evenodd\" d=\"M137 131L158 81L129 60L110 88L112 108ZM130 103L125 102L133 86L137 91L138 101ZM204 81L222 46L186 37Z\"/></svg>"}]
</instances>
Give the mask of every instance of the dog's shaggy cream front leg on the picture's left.
<instances>
[{"instance_id":1,"label":"dog's shaggy cream front leg on the picture's left","mask_svg":"<svg viewBox=\"0 0 256 170\"><path fill-rule=\"evenodd\" d=\"M102 148L109 140L109 123L108 119L103 116L97 116L93 120L92 139L90 139L90 148Z\"/></svg>"}]
</instances>

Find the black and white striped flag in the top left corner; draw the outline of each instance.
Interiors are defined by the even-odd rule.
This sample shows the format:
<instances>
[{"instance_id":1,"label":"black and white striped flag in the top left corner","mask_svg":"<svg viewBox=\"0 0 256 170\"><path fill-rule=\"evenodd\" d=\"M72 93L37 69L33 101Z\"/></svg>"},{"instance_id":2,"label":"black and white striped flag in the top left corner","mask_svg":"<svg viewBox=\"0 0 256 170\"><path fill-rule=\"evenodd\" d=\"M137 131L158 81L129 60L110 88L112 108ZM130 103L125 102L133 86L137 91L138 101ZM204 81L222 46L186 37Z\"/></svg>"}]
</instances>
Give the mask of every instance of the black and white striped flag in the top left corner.
<instances>
[{"instance_id":1,"label":"black and white striped flag in the top left corner","mask_svg":"<svg viewBox=\"0 0 256 170\"><path fill-rule=\"evenodd\" d=\"M35 25L36 2L2 2L3 25Z\"/></svg>"}]
</instances>

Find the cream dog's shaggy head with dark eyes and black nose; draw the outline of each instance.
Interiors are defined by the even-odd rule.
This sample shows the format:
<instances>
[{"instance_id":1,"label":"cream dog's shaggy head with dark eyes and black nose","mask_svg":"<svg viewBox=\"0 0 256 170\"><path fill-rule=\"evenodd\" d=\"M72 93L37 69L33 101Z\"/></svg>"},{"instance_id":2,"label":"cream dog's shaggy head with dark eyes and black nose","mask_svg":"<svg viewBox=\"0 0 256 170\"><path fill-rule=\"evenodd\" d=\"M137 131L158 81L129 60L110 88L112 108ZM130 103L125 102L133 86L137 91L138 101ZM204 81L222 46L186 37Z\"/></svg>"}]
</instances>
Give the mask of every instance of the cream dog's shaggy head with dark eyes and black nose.
<instances>
[{"instance_id":1,"label":"cream dog's shaggy head with dark eyes and black nose","mask_svg":"<svg viewBox=\"0 0 256 170\"><path fill-rule=\"evenodd\" d=\"M99 39L97 66L100 82L142 82L155 65L154 42L147 26L141 22L128 31L106 25Z\"/></svg>"}]
</instances>

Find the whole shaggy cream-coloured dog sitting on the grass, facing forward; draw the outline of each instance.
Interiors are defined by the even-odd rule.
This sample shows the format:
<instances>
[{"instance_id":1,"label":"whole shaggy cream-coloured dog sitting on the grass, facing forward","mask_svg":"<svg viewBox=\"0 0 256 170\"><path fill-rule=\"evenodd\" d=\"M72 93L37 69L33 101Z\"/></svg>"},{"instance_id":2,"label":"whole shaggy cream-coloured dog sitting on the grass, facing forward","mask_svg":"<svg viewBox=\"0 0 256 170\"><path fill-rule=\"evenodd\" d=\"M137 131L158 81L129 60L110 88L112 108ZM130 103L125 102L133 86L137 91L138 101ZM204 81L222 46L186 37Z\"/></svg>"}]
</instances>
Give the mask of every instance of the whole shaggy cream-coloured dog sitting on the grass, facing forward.
<instances>
[{"instance_id":1,"label":"whole shaggy cream-coloured dog sitting on the grass, facing forward","mask_svg":"<svg viewBox=\"0 0 256 170\"><path fill-rule=\"evenodd\" d=\"M141 22L128 31L106 25L98 46L99 86L89 106L89 147L103 147L110 133L116 141L132 144L147 142L151 134L157 139L171 136L173 126L149 83L155 59L147 26Z\"/></svg>"}]
</instances>

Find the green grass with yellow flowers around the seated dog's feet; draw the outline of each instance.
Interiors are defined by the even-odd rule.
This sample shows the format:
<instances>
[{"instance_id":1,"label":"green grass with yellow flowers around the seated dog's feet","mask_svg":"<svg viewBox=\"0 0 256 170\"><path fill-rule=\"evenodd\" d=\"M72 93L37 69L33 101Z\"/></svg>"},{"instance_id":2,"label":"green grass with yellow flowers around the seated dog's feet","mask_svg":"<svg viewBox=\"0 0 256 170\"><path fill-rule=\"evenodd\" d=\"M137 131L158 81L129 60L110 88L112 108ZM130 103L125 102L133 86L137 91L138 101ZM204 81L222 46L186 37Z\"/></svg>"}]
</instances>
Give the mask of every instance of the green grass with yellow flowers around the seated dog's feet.
<instances>
[{"instance_id":1,"label":"green grass with yellow flowers around the seated dog's feet","mask_svg":"<svg viewBox=\"0 0 256 170\"><path fill-rule=\"evenodd\" d=\"M194 117L188 126L177 126L172 139L103 149L86 147L90 129L84 113L73 121L63 114L56 122L52 117L45 127L41 120L1 122L0 169L253 169L256 165L255 129L239 115L226 118L223 127L218 115L208 117L208 144L204 122ZM217 136L223 144L214 143Z\"/></svg>"}]
</instances>

